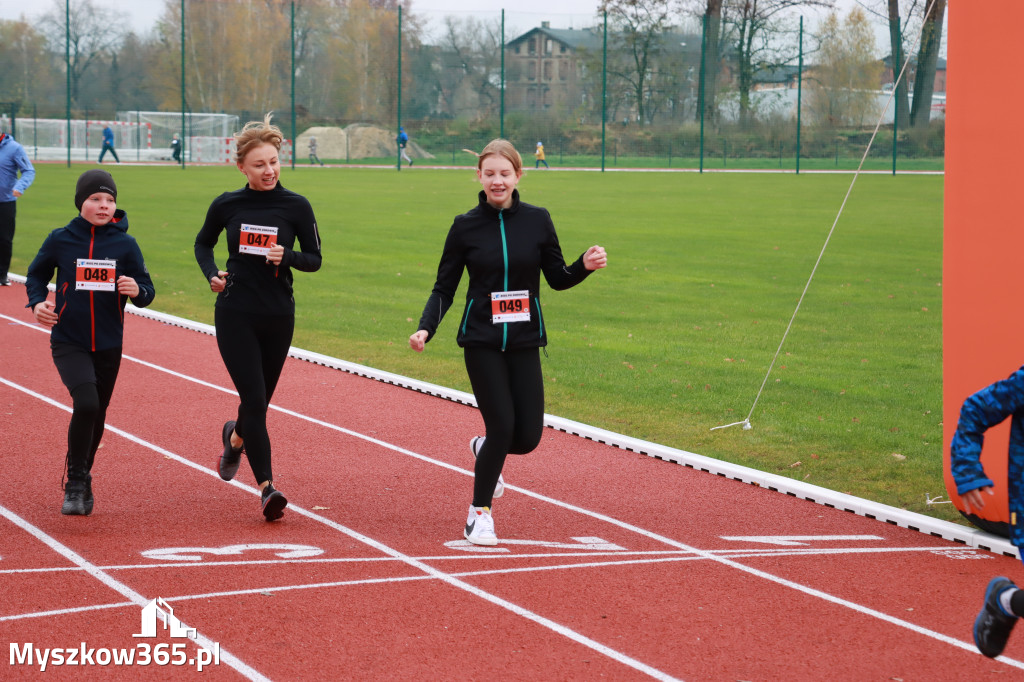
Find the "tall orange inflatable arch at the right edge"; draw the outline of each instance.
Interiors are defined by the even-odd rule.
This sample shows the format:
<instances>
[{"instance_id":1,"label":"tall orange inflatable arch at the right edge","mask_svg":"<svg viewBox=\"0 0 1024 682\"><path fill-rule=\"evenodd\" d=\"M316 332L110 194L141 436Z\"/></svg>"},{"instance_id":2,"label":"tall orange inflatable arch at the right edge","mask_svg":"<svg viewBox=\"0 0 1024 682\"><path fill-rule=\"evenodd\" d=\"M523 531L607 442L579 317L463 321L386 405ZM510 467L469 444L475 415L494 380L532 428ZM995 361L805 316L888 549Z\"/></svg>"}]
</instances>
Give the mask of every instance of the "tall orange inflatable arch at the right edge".
<instances>
[{"instance_id":1,"label":"tall orange inflatable arch at the right edge","mask_svg":"<svg viewBox=\"0 0 1024 682\"><path fill-rule=\"evenodd\" d=\"M1024 2L948 4L943 220L943 460L949 499L964 513L949 472L949 443L972 393L1024 366L1024 90L1015 65ZM967 515L1008 535L1010 420L989 430L981 461L995 498Z\"/></svg>"}]
</instances>

